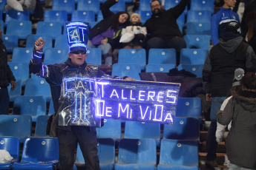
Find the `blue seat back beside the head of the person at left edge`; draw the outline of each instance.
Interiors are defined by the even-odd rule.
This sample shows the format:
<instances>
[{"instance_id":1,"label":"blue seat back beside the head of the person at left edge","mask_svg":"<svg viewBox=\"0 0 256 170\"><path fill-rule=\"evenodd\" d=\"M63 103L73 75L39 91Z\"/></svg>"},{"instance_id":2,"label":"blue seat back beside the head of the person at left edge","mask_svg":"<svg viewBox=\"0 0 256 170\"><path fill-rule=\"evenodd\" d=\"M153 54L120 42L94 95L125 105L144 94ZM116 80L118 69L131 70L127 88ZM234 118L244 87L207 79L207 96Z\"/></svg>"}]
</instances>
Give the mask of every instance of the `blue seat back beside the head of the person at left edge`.
<instances>
[{"instance_id":1,"label":"blue seat back beside the head of the person at left edge","mask_svg":"<svg viewBox=\"0 0 256 170\"><path fill-rule=\"evenodd\" d=\"M3 40L7 52L13 52L13 48L19 46L18 35L2 35L1 39Z\"/></svg>"}]
</instances>

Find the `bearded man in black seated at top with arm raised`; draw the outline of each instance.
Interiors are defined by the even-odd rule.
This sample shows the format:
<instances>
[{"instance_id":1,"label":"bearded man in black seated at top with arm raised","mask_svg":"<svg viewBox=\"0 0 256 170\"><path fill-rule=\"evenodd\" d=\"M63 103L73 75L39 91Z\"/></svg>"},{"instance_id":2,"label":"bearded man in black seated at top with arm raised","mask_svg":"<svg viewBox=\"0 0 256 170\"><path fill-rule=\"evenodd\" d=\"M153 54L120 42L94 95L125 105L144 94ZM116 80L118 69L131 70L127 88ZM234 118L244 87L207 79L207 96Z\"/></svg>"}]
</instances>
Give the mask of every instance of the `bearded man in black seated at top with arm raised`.
<instances>
[{"instance_id":1,"label":"bearded man in black seated at top with arm raised","mask_svg":"<svg viewBox=\"0 0 256 170\"><path fill-rule=\"evenodd\" d=\"M177 51L177 64L180 62L180 50L186 48L186 41L180 33L177 18L183 13L190 0L181 0L179 4L164 10L159 0L151 1L152 16L144 26L148 31L147 50L151 48L174 48Z\"/></svg>"}]
</instances>

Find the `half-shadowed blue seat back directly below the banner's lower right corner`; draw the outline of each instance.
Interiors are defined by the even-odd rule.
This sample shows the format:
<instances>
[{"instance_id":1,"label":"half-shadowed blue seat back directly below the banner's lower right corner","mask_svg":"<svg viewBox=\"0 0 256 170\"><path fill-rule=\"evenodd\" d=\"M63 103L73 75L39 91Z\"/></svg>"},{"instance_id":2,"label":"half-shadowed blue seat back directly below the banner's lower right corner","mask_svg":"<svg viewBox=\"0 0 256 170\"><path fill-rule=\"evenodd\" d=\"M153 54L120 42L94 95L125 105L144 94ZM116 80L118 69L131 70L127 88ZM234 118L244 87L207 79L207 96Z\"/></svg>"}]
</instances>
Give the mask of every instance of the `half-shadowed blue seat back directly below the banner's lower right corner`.
<instances>
[{"instance_id":1,"label":"half-shadowed blue seat back directly below the banner's lower right corner","mask_svg":"<svg viewBox=\"0 0 256 170\"><path fill-rule=\"evenodd\" d=\"M197 118L176 116L173 125L163 125L163 139L199 140L199 134L199 121Z\"/></svg>"}]
</instances>

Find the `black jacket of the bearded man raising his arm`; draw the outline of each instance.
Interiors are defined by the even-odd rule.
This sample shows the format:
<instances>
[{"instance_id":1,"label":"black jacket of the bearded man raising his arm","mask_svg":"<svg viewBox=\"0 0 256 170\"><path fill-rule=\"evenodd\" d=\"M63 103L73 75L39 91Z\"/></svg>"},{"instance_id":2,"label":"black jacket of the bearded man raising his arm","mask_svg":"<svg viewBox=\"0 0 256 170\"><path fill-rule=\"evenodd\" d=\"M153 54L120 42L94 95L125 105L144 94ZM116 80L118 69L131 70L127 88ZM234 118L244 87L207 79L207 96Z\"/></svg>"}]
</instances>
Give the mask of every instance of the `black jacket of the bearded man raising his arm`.
<instances>
[{"instance_id":1,"label":"black jacket of the bearded man raising his arm","mask_svg":"<svg viewBox=\"0 0 256 170\"><path fill-rule=\"evenodd\" d=\"M189 1L190 0L181 0L175 7L170 8L169 10L163 10L163 13L161 13L158 18L152 14L151 18L149 18L144 24L144 27L146 27L148 31L148 38L182 37L183 35L180 33L176 20L183 13Z\"/></svg>"}]
</instances>

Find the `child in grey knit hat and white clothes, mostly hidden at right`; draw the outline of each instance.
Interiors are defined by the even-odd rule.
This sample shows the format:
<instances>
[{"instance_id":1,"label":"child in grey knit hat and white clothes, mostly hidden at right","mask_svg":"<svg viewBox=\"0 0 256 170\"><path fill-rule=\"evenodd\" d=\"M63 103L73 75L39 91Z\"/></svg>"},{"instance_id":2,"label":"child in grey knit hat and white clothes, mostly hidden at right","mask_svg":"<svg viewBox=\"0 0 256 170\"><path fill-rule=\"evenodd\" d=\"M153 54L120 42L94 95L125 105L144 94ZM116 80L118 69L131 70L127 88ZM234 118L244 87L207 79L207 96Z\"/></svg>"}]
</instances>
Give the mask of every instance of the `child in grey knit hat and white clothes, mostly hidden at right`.
<instances>
[{"instance_id":1,"label":"child in grey knit hat and white clothes, mostly hidden at right","mask_svg":"<svg viewBox=\"0 0 256 170\"><path fill-rule=\"evenodd\" d=\"M242 91L242 86L240 86L240 80L243 78L244 76L244 70L243 69L235 69L234 71L234 80L232 83L232 89L231 89L231 95L232 93L236 92L239 93ZM232 96L230 96L229 98L226 98L225 101L223 101L220 110L224 110L226 104L229 102L229 99L232 98ZM229 123L228 129L230 130L231 128L231 123ZM216 130L216 141L219 143L222 141L223 136L224 136L224 132L226 131L226 125L221 125L220 123L217 122L217 130Z\"/></svg>"}]
</instances>

